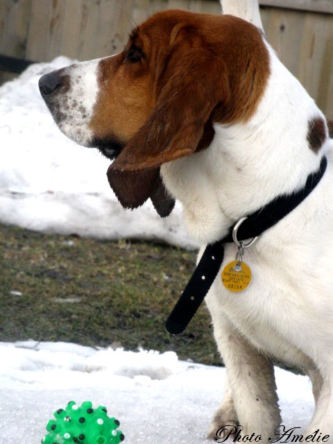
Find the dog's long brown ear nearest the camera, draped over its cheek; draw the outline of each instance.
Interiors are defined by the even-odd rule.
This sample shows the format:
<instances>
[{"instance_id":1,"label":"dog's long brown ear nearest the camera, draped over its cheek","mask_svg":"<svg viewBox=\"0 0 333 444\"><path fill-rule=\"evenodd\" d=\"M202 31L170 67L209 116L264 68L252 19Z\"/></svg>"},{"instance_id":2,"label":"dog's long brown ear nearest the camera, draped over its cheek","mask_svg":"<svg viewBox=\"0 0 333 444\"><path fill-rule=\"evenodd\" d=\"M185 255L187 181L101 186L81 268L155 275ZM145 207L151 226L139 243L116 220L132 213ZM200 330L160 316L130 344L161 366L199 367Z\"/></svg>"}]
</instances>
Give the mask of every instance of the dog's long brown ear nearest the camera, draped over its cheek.
<instances>
[{"instance_id":1,"label":"dog's long brown ear nearest the camera, draped over its cheek","mask_svg":"<svg viewBox=\"0 0 333 444\"><path fill-rule=\"evenodd\" d=\"M110 172L160 167L194 153L212 110L230 97L224 62L203 48L172 51L157 88L151 116L114 160Z\"/></svg>"}]
</instances>

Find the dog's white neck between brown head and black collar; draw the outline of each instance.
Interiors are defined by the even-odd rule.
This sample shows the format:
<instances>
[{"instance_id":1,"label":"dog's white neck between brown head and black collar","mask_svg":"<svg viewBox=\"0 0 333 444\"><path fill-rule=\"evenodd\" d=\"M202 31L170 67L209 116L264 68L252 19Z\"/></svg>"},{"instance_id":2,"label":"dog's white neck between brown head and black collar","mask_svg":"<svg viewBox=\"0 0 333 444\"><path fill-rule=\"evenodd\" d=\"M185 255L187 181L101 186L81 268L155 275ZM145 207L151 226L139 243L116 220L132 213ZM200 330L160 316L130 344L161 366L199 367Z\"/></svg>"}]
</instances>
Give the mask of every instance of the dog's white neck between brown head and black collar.
<instances>
[{"instance_id":1,"label":"dog's white neck between brown head and black collar","mask_svg":"<svg viewBox=\"0 0 333 444\"><path fill-rule=\"evenodd\" d=\"M309 147L309 121L325 117L269 51L272 74L254 116L246 123L216 123L207 150L162 167L165 185L184 207L187 229L201 242L221 239L234 221L302 188L330 144L317 152Z\"/></svg>"}]
</instances>

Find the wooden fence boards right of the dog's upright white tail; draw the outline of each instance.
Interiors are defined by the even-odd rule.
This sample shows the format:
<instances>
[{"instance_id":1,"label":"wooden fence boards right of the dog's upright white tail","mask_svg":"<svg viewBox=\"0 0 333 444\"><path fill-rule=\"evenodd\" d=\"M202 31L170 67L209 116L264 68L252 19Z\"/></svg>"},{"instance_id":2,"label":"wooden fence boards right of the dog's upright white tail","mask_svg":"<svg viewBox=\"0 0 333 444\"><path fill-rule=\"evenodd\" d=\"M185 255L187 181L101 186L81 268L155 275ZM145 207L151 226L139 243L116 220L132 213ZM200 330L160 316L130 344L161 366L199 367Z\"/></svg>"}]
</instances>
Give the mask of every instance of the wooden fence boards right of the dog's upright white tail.
<instances>
[{"instance_id":1,"label":"wooden fence boards right of the dog's upright white tail","mask_svg":"<svg viewBox=\"0 0 333 444\"><path fill-rule=\"evenodd\" d=\"M333 16L263 8L268 42L319 107L333 118Z\"/></svg>"}]
</instances>

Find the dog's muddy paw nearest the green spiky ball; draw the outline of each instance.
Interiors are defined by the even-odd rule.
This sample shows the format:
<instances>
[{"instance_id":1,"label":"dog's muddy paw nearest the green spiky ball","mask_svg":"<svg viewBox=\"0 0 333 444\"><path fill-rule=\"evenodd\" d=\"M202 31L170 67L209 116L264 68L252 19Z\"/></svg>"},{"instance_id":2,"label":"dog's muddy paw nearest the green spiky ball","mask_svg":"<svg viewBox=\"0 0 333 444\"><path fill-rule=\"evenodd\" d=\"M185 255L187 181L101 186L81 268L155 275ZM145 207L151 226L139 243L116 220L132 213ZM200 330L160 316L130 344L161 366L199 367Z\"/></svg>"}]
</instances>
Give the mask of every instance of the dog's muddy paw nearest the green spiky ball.
<instances>
[{"instance_id":1,"label":"dog's muddy paw nearest the green spiky ball","mask_svg":"<svg viewBox=\"0 0 333 444\"><path fill-rule=\"evenodd\" d=\"M234 436L238 427L239 422L233 403L222 405L214 415L207 438L222 443L228 435Z\"/></svg>"}]
</instances>

